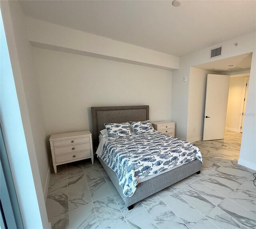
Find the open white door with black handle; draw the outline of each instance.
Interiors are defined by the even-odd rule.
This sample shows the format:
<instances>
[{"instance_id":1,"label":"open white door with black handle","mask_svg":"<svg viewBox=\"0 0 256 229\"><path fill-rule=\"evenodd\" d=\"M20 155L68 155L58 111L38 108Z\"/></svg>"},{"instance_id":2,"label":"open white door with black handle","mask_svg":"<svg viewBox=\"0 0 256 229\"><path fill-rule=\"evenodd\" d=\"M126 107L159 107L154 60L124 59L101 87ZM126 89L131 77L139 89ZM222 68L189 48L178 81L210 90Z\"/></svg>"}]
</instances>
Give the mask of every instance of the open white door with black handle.
<instances>
[{"instance_id":1,"label":"open white door with black handle","mask_svg":"<svg viewBox=\"0 0 256 229\"><path fill-rule=\"evenodd\" d=\"M204 141L224 138L229 80L229 75L207 74Z\"/></svg>"}]
</instances>

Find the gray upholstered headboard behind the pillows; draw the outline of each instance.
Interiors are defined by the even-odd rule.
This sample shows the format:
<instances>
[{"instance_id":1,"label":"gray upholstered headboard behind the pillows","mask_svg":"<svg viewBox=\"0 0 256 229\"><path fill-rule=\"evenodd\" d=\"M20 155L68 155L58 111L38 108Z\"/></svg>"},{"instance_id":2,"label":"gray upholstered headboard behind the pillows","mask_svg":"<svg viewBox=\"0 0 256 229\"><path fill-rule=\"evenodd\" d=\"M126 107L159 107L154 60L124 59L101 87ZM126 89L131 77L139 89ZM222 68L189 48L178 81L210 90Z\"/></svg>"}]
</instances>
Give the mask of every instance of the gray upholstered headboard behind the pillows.
<instances>
[{"instance_id":1,"label":"gray upholstered headboard behind the pillows","mask_svg":"<svg viewBox=\"0 0 256 229\"><path fill-rule=\"evenodd\" d=\"M92 140L94 152L99 144L100 130L106 122L144 121L149 119L149 106L92 107Z\"/></svg>"}]
</instances>

